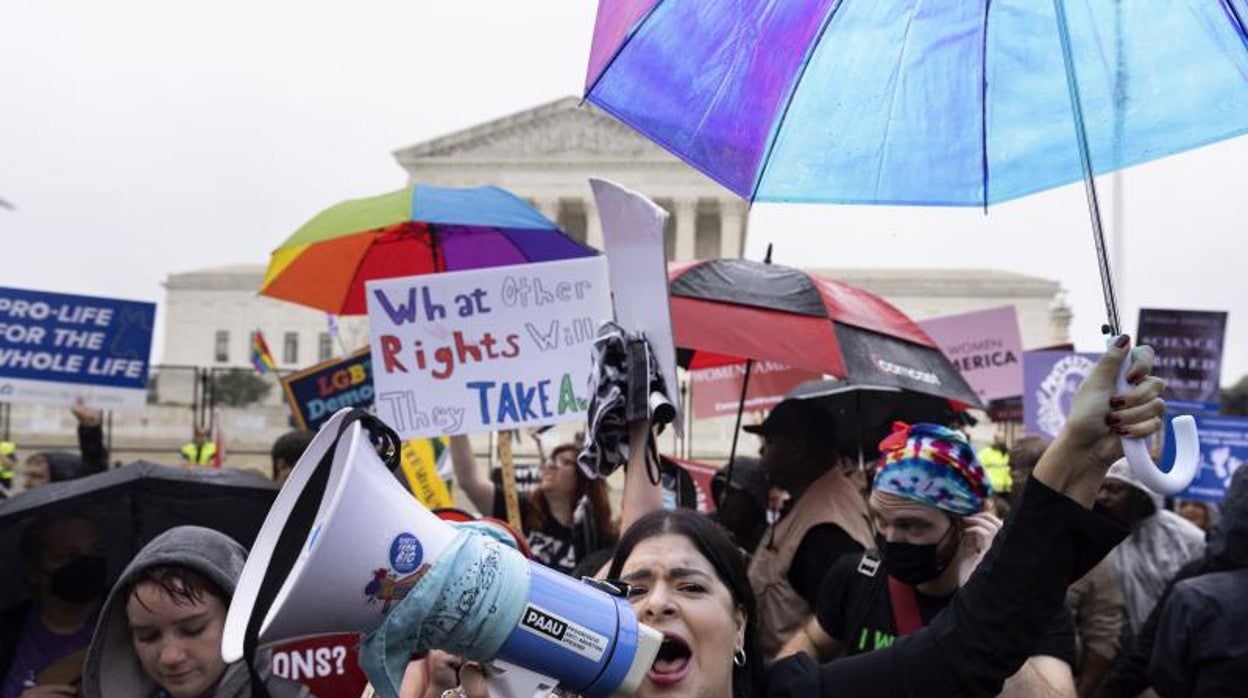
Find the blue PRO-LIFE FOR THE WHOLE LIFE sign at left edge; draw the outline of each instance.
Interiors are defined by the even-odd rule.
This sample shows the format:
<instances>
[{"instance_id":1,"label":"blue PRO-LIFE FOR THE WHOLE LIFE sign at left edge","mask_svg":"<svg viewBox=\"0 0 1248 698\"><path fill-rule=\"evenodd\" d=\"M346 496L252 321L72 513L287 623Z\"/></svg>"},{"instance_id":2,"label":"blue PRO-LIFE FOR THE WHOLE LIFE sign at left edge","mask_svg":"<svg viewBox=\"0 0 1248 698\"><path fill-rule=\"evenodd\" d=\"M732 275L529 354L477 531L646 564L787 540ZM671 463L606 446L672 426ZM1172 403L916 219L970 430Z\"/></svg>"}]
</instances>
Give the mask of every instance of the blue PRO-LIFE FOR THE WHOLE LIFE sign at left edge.
<instances>
[{"instance_id":1,"label":"blue PRO-LIFE FOR THE WHOLE LIFE sign at left edge","mask_svg":"<svg viewBox=\"0 0 1248 698\"><path fill-rule=\"evenodd\" d=\"M0 287L0 401L139 410L156 305Z\"/></svg>"}]
</instances>

